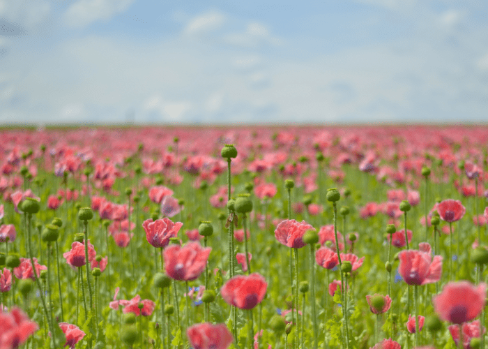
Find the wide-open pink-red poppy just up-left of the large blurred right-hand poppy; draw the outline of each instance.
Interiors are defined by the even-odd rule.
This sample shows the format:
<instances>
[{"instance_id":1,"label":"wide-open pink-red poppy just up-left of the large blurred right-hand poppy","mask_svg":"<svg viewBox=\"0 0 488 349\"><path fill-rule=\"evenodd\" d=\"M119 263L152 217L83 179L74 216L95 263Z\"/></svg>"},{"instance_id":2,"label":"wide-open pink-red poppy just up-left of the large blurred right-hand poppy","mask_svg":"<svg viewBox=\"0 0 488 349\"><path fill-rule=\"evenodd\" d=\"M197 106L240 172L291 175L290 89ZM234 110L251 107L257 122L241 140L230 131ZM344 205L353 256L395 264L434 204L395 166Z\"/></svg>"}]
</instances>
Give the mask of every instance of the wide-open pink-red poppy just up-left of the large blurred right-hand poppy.
<instances>
[{"instance_id":1,"label":"wide-open pink-red poppy just up-left of the large blurred right-hand poppy","mask_svg":"<svg viewBox=\"0 0 488 349\"><path fill-rule=\"evenodd\" d=\"M441 279L443 259L441 255L434 256L432 260L430 253L407 250L398 253L398 258L400 260L398 272L409 285L436 283Z\"/></svg>"}]
</instances>

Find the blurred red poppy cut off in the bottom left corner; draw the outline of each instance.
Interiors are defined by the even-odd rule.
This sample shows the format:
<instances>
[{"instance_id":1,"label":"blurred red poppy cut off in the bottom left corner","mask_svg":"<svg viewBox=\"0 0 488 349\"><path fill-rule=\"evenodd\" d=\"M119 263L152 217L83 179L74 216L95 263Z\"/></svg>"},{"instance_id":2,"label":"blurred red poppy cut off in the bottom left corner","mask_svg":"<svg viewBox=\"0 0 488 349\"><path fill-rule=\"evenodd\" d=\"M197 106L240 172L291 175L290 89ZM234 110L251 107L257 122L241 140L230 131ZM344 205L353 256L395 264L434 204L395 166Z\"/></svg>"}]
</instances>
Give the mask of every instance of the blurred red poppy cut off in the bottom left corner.
<instances>
[{"instance_id":1,"label":"blurred red poppy cut off in the bottom left corner","mask_svg":"<svg viewBox=\"0 0 488 349\"><path fill-rule=\"evenodd\" d=\"M13 306L10 313L0 313L0 348L19 348L38 329L36 322Z\"/></svg>"}]
</instances>

